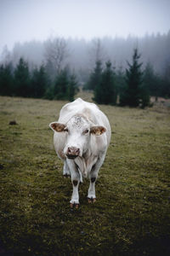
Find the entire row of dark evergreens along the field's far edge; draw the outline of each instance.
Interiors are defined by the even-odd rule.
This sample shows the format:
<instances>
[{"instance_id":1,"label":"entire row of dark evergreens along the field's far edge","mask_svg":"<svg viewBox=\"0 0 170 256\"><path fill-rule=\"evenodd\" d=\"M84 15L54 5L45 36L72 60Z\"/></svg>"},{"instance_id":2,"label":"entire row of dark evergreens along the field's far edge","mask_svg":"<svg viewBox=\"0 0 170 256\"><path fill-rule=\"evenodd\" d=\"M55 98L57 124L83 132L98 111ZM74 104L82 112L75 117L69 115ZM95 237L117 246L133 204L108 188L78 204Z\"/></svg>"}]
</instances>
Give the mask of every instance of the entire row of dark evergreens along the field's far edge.
<instances>
[{"instance_id":1,"label":"entire row of dark evergreens along the field's far edge","mask_svg":"<svg viewBox=\"0 0 170 256\"><path fill-rule=\"evenodd\" d=\"M65 48L65 44L59 44L55 51L48 54L51 57L46 65L40 67L30 68L23 58L15 67L11 61L1 64L0 95L73 101L78 90L77 77L68 65L61 65L64 51L60 50L60 46ZM127 61L125 71L122 67L117 70L111 61L106 61L103 67L99 59L100 45L97 47L94 70L83 86L84 90L94 91L94 102L145 108L150 106L150 96L156 96L156 99L158 96L170 97L170 68L162 77L155 73L150 62L145 68L142 67L137 48L133 50L132 61ZM54 65L55 75L52 78L50 67Z\"/></svg>"}]
</instances>

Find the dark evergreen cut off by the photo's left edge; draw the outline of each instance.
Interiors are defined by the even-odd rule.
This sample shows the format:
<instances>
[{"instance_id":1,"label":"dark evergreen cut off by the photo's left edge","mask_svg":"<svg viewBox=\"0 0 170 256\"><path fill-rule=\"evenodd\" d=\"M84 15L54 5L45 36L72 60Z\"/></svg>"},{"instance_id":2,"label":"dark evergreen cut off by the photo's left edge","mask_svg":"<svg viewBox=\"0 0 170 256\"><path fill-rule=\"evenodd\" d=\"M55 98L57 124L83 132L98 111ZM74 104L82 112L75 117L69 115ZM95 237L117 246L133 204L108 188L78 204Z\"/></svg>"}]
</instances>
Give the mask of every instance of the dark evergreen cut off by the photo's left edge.
<instances>
[{"instance_id":1,"label":"dark evergreen cut off by the photo's left edge","mask_svg":"<svg viewBox=\"0 0 170 256\"><path fill-rule=\"evenodd\" d=\"M12 64L6 64L0 66L0 95L12 96L13 95L13 73Z\"/></svg>"}]
</instances>

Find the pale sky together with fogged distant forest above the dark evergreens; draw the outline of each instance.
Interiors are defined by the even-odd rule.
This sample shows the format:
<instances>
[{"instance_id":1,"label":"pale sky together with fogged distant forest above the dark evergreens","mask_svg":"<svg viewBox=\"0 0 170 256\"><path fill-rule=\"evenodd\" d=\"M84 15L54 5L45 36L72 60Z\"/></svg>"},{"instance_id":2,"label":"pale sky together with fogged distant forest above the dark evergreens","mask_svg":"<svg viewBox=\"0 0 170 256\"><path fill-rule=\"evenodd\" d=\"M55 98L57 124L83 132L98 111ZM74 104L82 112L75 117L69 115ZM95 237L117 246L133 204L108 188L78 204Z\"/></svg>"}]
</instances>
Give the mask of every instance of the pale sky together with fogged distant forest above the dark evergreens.
<instances>
[{"instance_id":1,"label":"pale sky together with fogged distant forest above the dark evergreens","mask_svg":"<svg viewBox=\"0 0 170 256\"><path fill-rule=\"evenodd\" d=\"M157 73L170 65L169 0L0 0L0 61L20 57L30 67L47 61L48 40L63 38L64 65L88 73L99 59L127 67L134 47ZM144 66L143 65L143 66Z\"/></svg>"}]
</instances>

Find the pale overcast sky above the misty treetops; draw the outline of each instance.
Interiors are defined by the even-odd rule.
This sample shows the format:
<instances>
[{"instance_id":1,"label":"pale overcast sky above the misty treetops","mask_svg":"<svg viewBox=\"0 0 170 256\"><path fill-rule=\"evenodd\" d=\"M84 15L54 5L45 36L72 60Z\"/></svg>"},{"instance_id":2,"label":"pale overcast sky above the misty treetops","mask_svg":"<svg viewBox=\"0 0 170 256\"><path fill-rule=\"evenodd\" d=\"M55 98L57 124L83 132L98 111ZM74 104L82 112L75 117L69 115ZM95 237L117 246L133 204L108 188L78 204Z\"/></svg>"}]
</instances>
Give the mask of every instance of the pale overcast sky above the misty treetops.
<instances>
[{"instance_id":1,"label":"pale overcast sky above the misty treetops","mask_svg":"<svg viewBox=\"0 0 170 256\"><path fill-rule=\"evenodd\" d=\"M56 35L126 38L169 29L170 0L0 0L0 52Z\"/></svg>"}]
</instances>

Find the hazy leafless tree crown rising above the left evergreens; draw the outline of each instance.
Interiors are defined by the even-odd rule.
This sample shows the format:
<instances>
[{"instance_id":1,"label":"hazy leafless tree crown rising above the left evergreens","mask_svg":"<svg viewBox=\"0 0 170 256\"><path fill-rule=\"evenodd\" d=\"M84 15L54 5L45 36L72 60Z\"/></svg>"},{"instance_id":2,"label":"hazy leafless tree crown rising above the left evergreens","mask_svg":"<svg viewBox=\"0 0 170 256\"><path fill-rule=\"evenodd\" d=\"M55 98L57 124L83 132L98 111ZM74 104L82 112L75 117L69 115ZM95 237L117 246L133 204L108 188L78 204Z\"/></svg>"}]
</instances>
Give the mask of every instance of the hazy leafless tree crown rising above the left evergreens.
<instances>
[{"instance_id":1,"label":"hazy leafless tree crown rising above the left evergreens","mask_svg":"<svg viewBox=\"0 0 170 256\"><path fill-rule=\"evenodd\" d=\"M65 60L69 56L69 50L64 38L50 38L45 43L45 58L47 62L53 64L57 74L65 65Z\"/></svg>"}]
</instances>

